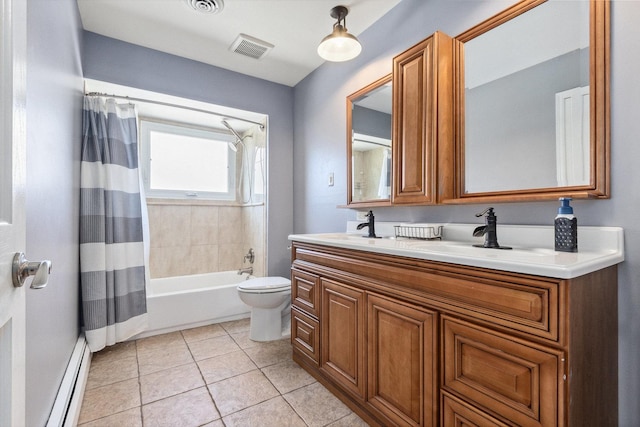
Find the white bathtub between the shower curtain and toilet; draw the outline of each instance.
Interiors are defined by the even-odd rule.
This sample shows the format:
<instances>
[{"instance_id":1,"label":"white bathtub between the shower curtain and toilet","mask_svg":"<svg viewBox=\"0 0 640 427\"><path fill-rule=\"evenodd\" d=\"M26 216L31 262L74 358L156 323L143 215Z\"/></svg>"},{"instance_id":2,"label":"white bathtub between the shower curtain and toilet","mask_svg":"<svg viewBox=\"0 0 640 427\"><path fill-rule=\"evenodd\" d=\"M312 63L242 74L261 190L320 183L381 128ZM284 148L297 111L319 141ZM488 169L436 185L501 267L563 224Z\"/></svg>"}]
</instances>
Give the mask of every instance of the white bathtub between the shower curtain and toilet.
<instances>
[{"instance_id":1,"label":"white bathtub between the shower curtain and toilet","mask_svg":"<svg viewBox=\"0 0 640 427\"><path fill-rule=\"evenodd\" d=\"M236 286L237 271L151 279L147 289L148 328L135 338L249 317Z\"/></svg>"}]
</instances>

